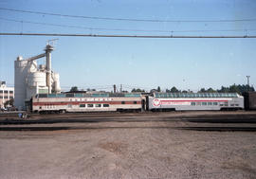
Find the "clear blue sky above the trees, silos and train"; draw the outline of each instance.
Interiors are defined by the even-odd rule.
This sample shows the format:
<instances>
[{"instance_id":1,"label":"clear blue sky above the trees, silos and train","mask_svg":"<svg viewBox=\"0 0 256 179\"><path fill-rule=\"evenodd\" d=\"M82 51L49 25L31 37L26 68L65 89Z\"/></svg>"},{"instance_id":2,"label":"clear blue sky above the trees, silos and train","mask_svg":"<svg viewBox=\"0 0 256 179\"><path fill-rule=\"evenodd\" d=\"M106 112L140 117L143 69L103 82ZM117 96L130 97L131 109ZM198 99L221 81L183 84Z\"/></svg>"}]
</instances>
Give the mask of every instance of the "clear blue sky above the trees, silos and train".
<instances>
[{"instance_id":1,"label":"clear blue sky above the trees, silos and train","mask_svg":"<svg viewBox=\"0 0 256 179\"><path fill-rule=\"evenodd\" d=\"M1 8L61 14L160 20L256 19L254 0L1 0ZM166 30L139 32L50 27L17 21L80 27ZM183 30L242 30L197 31ZM256 21L232 23L149 23L64 18L0 10L1 32L90 33L130 35L256 35ZM14 84L14 60L43 52L55 37L0 36L0 80ZM124 89L171 88L199 90L233 83L256 84L256 39L128 39L58 37L52 53L53 70L60 73L61 86L69 89L101 88L123 84ZM44 63L44 59L38 63Z\"/></svg>"}]
</instances>

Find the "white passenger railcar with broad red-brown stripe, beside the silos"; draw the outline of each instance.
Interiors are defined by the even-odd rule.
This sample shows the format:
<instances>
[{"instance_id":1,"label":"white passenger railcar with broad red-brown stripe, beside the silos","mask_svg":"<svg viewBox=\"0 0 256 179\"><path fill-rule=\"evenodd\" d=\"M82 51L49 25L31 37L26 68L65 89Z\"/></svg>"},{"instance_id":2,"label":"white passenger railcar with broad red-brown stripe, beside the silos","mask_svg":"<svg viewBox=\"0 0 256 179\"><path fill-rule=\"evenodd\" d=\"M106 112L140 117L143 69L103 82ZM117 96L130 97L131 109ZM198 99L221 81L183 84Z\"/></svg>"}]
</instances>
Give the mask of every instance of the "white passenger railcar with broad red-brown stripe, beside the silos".
<instances>
[{"instance_id":1,"label":"white passenger railcar with broad red-brown stripe, beside the silos","mask_svg":"<svg viewBox=\"0 0 256 179\"><path fill-rule=\"evenodd\" d=\"M143 100L144 101L144 100ZM140 94L38 94L32 98L32 112L139 111L144 102Z\"/></svg>"}]
</instances>

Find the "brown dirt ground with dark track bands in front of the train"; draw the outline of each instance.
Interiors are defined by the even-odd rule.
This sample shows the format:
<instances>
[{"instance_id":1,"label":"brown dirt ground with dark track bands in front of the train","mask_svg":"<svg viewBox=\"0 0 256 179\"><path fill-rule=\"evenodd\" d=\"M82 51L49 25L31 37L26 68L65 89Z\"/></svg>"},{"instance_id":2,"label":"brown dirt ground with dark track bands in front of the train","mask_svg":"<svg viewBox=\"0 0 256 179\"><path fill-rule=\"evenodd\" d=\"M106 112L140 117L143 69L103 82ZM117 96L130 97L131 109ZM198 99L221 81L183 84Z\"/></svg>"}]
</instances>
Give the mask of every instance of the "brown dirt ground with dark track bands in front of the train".
<instances>
[{"instance_id":1,"label":"brown dirt ground with dark track bands in front of the train","mask_svg":"<svg viewBox=\"0 0 256 179\"><path fill-rule=\"evenodd\" d=\"M0 116L0 178L256 178L256 112Z\"/></svg>"}]
</instances>

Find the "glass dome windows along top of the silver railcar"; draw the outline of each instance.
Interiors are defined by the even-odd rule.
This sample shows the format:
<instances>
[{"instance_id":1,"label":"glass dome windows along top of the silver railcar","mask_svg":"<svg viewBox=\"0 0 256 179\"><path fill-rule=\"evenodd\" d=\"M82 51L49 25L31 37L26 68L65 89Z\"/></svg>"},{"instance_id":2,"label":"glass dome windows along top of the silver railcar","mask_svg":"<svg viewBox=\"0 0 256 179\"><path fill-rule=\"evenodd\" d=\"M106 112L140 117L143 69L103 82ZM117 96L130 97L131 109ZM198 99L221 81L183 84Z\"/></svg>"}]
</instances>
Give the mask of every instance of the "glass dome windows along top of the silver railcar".
<instances>
[{"instance_id":1,"label":"glass dome windows along top of the silver railcar","mask_svg":"<svg viewBox=\"0 0 256 179\"><path fill-rule=\"evenodd\" d=\"M237 93L154 93L155 98L238 98Z\"/></svg>"}]
</instances>

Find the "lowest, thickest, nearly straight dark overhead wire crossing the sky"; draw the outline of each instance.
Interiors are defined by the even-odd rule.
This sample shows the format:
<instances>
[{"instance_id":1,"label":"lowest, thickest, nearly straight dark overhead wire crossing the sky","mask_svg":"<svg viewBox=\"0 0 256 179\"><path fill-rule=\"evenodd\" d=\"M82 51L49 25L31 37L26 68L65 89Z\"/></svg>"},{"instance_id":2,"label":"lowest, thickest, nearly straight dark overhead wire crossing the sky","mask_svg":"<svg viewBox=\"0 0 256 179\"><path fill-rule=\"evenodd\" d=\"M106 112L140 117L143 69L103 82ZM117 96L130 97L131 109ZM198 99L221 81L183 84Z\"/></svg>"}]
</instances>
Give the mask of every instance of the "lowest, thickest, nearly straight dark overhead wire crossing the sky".
<instances>
[{"instance_id":1,"label":"lowest, thickest, nearly straight dark overhead wire crossing the sky","mask_svg":"<svg viewBox=\"0 0 256 179\"><path fill-rule=\"evenodd\" d=\"M75 33L9 33L0 32L0 35L5 36L63 36L63 37L116 37L116 38L153 38L153 39L174 39L174 38L208 38L208 39L224 39L224 38L256 38L256 35L244 36L196 36L196 35L100 35L100 34L75 34Z\"/></svg>"}]
</instances>

